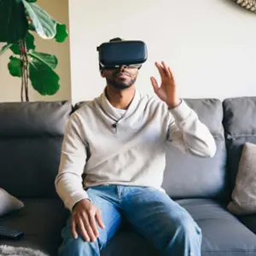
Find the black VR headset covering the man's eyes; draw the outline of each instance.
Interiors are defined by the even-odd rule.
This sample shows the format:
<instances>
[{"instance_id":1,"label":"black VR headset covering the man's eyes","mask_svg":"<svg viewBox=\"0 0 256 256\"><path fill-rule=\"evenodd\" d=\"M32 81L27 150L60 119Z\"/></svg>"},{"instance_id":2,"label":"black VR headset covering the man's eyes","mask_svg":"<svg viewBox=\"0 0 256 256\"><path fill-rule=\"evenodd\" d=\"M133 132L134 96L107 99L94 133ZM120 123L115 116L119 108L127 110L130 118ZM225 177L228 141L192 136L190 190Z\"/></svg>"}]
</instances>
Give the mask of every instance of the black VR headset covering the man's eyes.
<instances>
[{"instance_id":1,"label":"black VR headset covering the man's eyes","mask_svg":"<svg viewBox=\"0 0 256 256\"><path fill-rule=\"evenodd\" d=\"M147 61L148 50L143 41L113 41L97 47L100 69L121 66L140 68Z\"/></svg>"}]
</instances>

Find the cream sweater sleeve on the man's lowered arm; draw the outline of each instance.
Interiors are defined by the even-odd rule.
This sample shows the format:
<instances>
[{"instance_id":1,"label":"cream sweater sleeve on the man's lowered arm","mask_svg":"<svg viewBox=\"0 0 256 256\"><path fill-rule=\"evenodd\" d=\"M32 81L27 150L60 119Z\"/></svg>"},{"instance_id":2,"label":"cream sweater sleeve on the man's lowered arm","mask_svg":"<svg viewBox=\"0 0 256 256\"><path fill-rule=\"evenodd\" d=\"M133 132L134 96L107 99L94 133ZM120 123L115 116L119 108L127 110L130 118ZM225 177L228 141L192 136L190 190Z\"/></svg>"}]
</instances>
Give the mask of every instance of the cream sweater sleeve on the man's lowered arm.
<instances>
[{"instance_id":1,"label":"cream sweater sleeve on the man's lowered arm","mask_svg":"<svg viewBox=\"0 0 256 256\"><path fill-rule=\"evenodd\" d=\"M67 122L61 148L61 163L55 177L56 192L70 211L77 202L88 198L82 183L86 146L82 125L76 113L73 113Z\"/></svg>"}]
</instances>

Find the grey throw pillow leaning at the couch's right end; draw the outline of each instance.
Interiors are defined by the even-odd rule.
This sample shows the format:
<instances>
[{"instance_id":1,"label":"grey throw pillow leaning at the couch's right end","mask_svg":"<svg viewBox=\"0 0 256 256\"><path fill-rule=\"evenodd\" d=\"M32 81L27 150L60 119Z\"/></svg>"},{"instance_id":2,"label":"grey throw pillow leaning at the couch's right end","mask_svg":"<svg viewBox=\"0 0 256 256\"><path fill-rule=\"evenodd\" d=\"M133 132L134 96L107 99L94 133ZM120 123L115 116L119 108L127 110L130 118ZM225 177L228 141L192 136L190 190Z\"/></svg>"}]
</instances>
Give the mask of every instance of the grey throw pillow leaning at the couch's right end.
<instances>
[{"instance_id":1,"label":"grey throw pillow leaning at the couch's right end","mask_svg":"<svg viewBox=\"0 0 256 256\"><path fill-rule=\"evenodd\" d=\"M256 145L245 143L241 151L236 186L228 205L236 215L256 213Z\"/></svg>"}]
</instances>

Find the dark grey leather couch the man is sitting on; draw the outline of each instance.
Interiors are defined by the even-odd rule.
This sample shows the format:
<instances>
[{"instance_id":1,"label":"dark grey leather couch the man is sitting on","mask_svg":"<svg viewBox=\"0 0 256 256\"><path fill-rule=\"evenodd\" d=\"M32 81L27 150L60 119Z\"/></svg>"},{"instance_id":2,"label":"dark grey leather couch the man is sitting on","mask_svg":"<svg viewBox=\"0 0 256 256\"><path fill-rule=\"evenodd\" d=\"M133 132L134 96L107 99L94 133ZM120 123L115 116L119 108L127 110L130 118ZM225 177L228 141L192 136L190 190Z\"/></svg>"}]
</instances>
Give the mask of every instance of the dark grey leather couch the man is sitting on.
<instances>
[{"instance_id":1,"label":"dark grey leather couch the man is sitting on","mask_svg":"<svg viewBox=\"0 0 256 256\"><path fill-rule=\"evenodd\" d=\"M186 102L209 127L218 150L213 158L201 159L166 148L163 187L200 225L203 256L256 255L256 215L237 218L226 209L242 145L256 143L256 98ZM0 240L0 245L57 254L69 212L55 193L54 180L67 119L81 104L74 108L69 102L0 104L0 188L25 204L20 211L0 218L1 225L22 230L25 236L20 241ZM102 255L150 256L158 252L124 225Z\"/></svg>"}]
</instances>

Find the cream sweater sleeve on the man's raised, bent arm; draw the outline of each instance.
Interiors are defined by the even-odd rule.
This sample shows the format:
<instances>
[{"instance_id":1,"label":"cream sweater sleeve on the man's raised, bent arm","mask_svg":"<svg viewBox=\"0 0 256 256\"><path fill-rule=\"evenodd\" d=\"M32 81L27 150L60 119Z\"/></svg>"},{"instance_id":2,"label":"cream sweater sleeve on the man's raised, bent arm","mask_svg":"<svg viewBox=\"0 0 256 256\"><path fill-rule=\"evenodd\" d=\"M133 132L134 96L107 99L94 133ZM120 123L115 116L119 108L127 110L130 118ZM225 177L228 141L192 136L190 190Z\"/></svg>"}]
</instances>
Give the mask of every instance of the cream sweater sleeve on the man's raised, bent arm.
<instances>
[{"instance_id":1,"label":"cream sweater sleeve on the man's raised, bent arm","mask_svg":"<svg viewBox=\"0 0 256 256\"><path fill-rule=\"evenodd\" d=\"M216 153L216 143L207 125L201 123L186 102L182 100L176 108L169 111L169 142L183 153L201 157L212 157Z\"/></svg>"}]
</instances>

